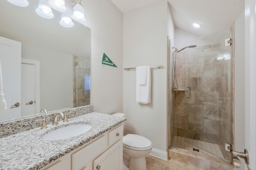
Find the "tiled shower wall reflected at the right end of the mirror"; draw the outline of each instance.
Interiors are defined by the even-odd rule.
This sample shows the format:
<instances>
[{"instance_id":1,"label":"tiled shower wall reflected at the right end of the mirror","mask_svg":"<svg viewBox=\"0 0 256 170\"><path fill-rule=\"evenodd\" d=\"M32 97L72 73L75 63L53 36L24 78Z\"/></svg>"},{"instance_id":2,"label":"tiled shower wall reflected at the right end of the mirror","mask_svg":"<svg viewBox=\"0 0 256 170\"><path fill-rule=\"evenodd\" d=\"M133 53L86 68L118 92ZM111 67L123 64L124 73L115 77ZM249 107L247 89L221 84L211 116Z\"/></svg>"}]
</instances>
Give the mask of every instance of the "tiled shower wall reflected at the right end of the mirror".
<instances>
[{"instance_id":1,"label":"tiled shower wall reflected at the right end of the mirror","mask_svg":"<svg viewBox=\"0 0 256 170\"><path fill-rule=\"evenodd\" d=\"M73 55L73 107L90 104L90 57Z\"/></svg>"}]
</instances>

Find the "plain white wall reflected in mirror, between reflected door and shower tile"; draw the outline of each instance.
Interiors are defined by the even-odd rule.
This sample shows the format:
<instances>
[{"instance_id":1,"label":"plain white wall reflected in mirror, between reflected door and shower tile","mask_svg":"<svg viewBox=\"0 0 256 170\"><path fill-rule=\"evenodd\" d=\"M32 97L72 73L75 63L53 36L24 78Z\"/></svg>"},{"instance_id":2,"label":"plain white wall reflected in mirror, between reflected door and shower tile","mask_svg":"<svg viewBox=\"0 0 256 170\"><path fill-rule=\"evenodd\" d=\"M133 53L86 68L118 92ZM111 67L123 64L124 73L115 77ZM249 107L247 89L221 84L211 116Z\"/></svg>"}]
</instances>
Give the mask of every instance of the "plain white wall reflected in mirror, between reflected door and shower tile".
<instances>
[{"instance_id":1,"label":"plain white wall reflected in mirror, between reflected door and shower tile","mask_svg":"<svg viewBox=\"0 0 256 170\"><path fill-rule=\"evenodd\" d=\"M73 107L72 55L22 43L22 58L40 61L40 109Z\"/></svg>"}]
</instances>

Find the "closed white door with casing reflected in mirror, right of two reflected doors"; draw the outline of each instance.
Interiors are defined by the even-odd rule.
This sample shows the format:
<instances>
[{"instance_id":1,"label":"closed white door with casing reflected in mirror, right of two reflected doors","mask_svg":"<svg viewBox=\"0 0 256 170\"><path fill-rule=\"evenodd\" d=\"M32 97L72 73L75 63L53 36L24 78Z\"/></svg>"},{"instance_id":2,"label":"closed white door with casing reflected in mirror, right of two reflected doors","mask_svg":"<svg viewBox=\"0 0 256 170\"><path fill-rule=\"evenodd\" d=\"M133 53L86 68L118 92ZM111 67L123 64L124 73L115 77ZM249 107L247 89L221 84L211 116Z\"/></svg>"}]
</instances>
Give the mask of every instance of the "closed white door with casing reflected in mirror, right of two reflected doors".
<instances>
[{"instance_id":1,"label":"closed white door with casing reflected in mirror, right of two reflected doors","mask_svg":"<svg viewBox=\"0 0 256 170\"><path fill-rule=\"evenodd\" d=\"M21 116L40 113L40 61L23 59L21 63Z\"/></svg>"}]
</instances>

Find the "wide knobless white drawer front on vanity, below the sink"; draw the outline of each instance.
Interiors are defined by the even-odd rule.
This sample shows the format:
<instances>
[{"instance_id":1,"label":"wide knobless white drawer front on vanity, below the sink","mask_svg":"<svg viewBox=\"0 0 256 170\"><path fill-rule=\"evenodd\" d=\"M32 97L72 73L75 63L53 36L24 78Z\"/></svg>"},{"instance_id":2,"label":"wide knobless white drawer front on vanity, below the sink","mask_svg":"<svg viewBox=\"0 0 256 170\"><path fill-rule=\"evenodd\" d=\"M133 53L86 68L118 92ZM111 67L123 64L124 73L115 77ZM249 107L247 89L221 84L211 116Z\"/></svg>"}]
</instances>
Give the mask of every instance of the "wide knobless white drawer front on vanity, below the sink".
<instances>
[{"instance_id":1,"label":"wide knobless white drawer front on vanity, below the sink","mask_svg":"<svg viewBox=\"0 0 256 170\"><path fill-rule=\"evenodd\" d=\"M72 170L86 169L88 162L102 154L108 148L107 137L104 135L72 154Z\"/></svg>"}]
</instances>

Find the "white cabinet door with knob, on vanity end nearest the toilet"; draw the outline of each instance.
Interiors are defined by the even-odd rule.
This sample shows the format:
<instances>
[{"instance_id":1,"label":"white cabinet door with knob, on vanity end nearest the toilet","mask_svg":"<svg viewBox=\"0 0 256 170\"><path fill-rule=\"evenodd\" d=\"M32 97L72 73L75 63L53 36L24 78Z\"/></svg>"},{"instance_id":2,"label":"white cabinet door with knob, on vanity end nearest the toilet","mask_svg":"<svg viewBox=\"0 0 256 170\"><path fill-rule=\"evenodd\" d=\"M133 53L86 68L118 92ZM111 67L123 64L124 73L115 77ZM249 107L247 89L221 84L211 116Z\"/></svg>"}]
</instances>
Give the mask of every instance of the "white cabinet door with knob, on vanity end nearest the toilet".
<instances>
[{"instance_id":1,"label":"white cabinet door with knob, on vanity end nearest the toilet","mask_svg":"<svg viewBox=\"0 0 256 170\"><path fill-rule=\"evenodd\" d=\"M93 161L93 170L122 170L122 139Z\"/></svg>"}]
</instances>

